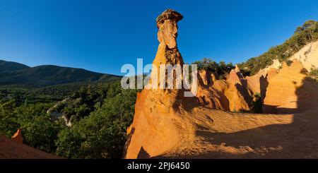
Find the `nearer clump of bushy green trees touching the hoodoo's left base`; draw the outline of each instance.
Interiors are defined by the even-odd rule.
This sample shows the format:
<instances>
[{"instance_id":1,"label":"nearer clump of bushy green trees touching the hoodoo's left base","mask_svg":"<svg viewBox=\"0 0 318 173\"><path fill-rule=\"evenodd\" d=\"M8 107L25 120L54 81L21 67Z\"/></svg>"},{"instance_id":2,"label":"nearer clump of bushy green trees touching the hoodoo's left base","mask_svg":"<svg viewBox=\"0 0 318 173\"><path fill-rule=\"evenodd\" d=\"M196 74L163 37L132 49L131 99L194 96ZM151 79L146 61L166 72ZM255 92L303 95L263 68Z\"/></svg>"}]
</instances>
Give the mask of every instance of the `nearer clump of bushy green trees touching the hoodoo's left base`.
<instances>
[{"instance_id":1,"label":"nearer clump of bushy green trees touching the hoodoo's left base","mask_svg":"<svg viewBox=\"0 0 318 173\"><path fill-rule=\"evenodd\" d=\"M70 158L120 158L134 117L136 91L123 90L90 116L59 133L57 154Z\"/></svg>"}]
</instances>

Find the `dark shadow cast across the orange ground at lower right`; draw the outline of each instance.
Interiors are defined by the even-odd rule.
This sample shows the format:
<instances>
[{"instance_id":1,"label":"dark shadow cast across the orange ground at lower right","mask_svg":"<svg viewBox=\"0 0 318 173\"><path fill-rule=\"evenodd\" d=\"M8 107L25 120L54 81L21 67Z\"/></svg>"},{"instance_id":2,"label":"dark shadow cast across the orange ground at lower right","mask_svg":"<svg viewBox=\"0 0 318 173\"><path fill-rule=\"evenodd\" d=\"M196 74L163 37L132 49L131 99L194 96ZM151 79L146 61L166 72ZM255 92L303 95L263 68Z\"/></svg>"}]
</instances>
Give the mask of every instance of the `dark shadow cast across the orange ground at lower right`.
<instances>
[{"instance_id":1,"label":"dark shadow cast across the orange ground at lower right","mask_svg":"<svg viewBox=\"0 0 318 173\"><path fill-rule=\"evenodd\" d=\"M292 124L262 126L235 133L198 131L208 143L252 148L245 154L207 153L198 158L318 158L318 84L305 78L298 95L297 109L283 109L293 114ZM283 116L283 115L278 115ZM256 152L255 152L256 151Z\"/></svg>"}]
</instances>

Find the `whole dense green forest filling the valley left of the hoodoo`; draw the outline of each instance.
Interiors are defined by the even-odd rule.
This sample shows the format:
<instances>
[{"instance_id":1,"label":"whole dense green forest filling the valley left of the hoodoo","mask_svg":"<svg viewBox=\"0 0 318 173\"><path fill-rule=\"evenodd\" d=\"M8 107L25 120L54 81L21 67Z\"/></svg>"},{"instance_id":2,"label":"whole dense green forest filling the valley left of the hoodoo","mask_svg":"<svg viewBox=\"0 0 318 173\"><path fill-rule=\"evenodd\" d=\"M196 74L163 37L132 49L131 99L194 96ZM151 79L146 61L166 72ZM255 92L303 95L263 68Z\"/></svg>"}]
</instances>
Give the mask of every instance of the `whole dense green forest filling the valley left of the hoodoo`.
<instances>
[{"instance_id":1,"label":"whole dense green forest filling the valley left of the hoodoo","mask_svg":"<svg viewBox=\"0 0 318 173\"><path fill-rule=\"evenodd\" d=\"M65 105L55 100L29 102L26 97L30 95L21 90L23 87L18 92L0 90L1 134L11 137L20 128L23 143L64 157L122 157L126 128L134 116L136 90L122 90L119 81L83 85L67 97ZM49 93L44 96L54 97ZM71 127L62 117L55 119L47 113L54 105L62 116L73 117Z\"/></svg>"}]
</instances>

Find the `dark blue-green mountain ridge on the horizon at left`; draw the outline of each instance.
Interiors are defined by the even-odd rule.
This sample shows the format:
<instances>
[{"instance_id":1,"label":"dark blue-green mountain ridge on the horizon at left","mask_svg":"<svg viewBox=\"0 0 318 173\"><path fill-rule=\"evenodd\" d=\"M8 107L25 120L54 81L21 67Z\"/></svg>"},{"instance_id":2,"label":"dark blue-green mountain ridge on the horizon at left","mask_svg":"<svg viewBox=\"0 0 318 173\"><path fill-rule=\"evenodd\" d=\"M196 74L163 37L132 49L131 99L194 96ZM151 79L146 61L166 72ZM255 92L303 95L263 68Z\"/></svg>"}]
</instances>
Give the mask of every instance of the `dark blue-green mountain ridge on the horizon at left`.
<instances>
[{"instance_id":1,"label":"dark blue-green mountain ridge on the horizon at left","mask_svg":"<svg viewBox=\"0 0 318 173\"><path fill-rule=\"evenodd\" d=\"M0 60L0 85L58 85L80 82L107 82L120 76L63 66L35 66Z\"/></svg>"}]
</instances>

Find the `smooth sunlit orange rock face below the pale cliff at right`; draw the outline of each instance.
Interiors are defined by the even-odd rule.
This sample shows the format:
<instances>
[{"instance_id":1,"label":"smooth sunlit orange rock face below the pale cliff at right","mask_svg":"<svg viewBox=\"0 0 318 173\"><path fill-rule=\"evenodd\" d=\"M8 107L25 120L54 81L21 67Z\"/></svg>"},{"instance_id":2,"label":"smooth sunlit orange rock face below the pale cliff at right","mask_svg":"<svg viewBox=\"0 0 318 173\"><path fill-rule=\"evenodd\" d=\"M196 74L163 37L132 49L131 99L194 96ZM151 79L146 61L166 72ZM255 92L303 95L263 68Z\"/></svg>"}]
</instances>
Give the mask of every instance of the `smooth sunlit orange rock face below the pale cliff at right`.
<instances>
[{"instance_id":1,"label":"smooth sunlit orange rock face below the pale cliff at right","mask_svg":"<svg viewBox=\"0 0 318 173\"><path fill-rule=\"evenodd\" d=\"M307 78L307 70L302 66L300 61L293 61L288 66L283 62L281 71L269 79L269 85L266 89L263 112L266 113L293 113L300 112L300 97L304 91L308 96L314 97L314 90L302 90ZM300 93L302 91L302 93ZM305 98L303 98L305 99ZM310 104L310 102L308 102Z\"/></svg>"}]
</instances>

